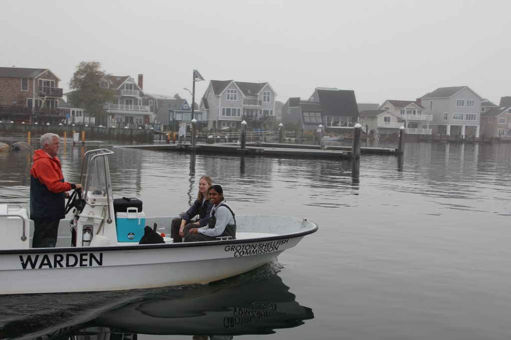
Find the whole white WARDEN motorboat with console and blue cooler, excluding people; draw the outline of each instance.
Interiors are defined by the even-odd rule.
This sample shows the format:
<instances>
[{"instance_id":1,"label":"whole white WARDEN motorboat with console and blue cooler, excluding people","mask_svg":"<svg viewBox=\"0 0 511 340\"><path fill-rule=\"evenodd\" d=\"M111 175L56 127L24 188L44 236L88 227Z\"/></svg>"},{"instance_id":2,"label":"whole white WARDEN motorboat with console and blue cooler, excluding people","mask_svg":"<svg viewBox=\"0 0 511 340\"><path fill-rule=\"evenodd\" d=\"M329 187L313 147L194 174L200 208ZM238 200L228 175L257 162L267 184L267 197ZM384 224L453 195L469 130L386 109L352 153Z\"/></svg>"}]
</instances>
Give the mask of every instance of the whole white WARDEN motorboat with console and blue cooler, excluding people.
<instances>
[{"instance_id":1,"label":"whole white WARDEN motorboat with console and blue cooler, excluding people","mask_svg":"<svg viewBox=\"0 0 511 340\"><path fill-rule=\"evenodd\" d=\"M144 226L170 234L174 217L115 214L107 149L87 151L83 199L62 220L56 248L30 247L30 221L21 206L0 204L0 294L97 292L207 283L275 259L318 227L306 219L236 216L236 239L141 245ZM82 181L82 178L80 178ZM130 216L131 215L131 216ZM71 225L72 232L69 232Z\"/></svg>"}]
</instances>

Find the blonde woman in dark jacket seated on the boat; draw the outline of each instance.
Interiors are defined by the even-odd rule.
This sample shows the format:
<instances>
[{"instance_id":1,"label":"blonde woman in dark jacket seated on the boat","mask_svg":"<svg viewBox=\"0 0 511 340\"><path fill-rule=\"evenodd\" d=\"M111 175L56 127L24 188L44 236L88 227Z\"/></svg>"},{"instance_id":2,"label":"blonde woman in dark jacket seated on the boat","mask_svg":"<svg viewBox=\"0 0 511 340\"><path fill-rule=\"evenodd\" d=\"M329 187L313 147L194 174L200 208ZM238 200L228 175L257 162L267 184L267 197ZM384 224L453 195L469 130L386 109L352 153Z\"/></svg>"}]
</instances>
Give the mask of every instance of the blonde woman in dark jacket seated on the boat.
<instances>
[{"instance_id":1,"label":"blonde woman in dark jacket seated on the boat","mask_svg":"<svg viewBox=\"0 0 511 340\"><path fill-rule=\"evenodd\" d=\"M171 236L174 242L183 241L183 229L187 224L191 224L190 227L203 227L206 226L211 217L211 210L213 204L210 204L210 200L207 196L207 191L213 185L213 181L210 176L204 175L199 179L199 192L197 199L189 210L184 213L181 218L175 218L171 224ZM192 221L192 219L198 216L198 219Z\"/></svg>"}]
</instances>

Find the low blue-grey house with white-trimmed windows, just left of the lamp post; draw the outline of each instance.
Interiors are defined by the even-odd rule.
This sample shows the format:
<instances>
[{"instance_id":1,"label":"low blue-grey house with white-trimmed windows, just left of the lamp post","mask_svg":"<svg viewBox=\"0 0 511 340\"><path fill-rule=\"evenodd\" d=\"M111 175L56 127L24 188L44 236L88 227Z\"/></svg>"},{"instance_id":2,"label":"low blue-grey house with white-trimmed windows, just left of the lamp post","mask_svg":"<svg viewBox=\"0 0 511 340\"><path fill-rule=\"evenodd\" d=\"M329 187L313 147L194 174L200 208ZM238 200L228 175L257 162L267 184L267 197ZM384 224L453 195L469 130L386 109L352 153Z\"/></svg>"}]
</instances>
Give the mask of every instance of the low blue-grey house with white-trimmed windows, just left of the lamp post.
<instances>
[{"instance_id":1,"label":"low blue-grey house with white-trimmed windows, just left of the lamp post","mask_svg":"<svg viewBox=\"0 0 511 340\"><path fill-rule=\"evenodd\" d=\"M192 121L192 107L186 99L164 99L158 103L155 120L162 125L162 130L177 131L179 125L184 122L190 126ZM197 129L200 130L204 120L202 111L194 110L194 118L197 120Z\"/></svg>"}]
</instances>

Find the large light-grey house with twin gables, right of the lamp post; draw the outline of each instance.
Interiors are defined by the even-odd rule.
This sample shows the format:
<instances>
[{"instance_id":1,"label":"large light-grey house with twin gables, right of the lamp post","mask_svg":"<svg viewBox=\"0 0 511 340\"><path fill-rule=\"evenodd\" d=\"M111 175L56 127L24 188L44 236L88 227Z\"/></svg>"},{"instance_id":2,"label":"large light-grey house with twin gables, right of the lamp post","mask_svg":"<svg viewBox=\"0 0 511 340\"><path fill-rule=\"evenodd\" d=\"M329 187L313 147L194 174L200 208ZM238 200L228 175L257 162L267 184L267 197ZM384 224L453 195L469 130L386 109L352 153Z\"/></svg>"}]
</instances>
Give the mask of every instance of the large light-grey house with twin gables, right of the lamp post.
<instances>
[{"instance_id":1,"label":"large light-grey house with twin gables, right of the lamp post","mask_svg":"<svg viewBox=\"0 0 511 340\"><path fill-rule=\"evenodd\" d=\"M212 80L202 96L199 111L204 112L208 129L268 129L275 118L276 92L269 83Z\"/></svg>"}]
</instances>

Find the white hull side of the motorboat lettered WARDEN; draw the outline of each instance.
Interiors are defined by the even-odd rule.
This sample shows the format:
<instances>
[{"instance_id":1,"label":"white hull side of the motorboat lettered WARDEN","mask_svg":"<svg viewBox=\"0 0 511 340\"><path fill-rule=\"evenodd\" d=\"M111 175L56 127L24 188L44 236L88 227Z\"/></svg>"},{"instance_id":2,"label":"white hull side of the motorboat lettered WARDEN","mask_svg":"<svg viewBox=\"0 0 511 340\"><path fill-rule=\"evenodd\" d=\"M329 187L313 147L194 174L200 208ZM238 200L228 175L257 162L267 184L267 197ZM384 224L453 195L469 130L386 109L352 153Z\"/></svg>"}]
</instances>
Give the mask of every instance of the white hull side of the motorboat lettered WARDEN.
<instances>
[{"instance_id":1,"label":"white hull side of the motorboat lettered WARDEN","mask_svg":"<svg viewBox=\"0 0 511 340\"><path fill-rule=\"evenodd\" d=\"M277 223L259 230L264 231L260 238L243 239L242 231L238 240L2 250L0 294L114 291L217 281L274 260L317 229L309 221L298 224L304 230L268 236Z\"/></svg>"}]
</instances>

